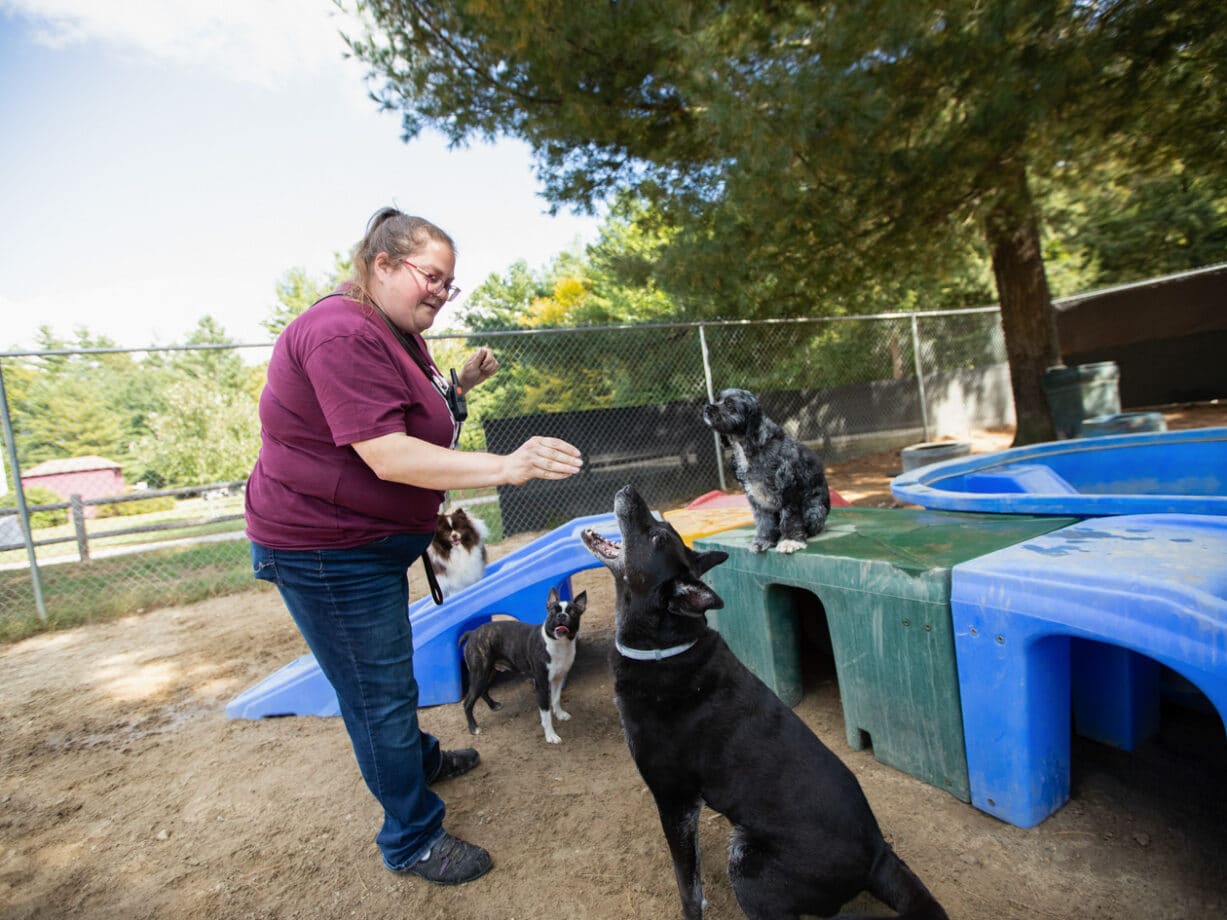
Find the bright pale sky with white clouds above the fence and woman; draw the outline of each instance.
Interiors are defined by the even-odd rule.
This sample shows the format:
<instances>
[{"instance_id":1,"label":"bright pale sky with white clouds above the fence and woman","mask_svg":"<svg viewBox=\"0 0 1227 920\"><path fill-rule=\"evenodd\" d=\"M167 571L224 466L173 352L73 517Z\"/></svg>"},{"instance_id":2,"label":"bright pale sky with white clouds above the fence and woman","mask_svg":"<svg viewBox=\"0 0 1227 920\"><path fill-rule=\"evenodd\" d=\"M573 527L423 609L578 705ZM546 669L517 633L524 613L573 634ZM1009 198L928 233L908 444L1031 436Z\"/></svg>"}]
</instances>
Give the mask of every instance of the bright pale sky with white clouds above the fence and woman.
<instances>
[{"instance_id":1,"label":"bright pale sky with white clouds above the fence and woman","mask_svg":"<svg viewBox=\"0 0 1227 920\"><path fill-rule=\"evenodd\" d=\"M595 239L519 141L402 142L342 25L330 0L0 0L0 350L171 345L206 314L266 342L277 280L321 280L385 205L455 239L453 313Z\"/></svg>"}]
</instances>

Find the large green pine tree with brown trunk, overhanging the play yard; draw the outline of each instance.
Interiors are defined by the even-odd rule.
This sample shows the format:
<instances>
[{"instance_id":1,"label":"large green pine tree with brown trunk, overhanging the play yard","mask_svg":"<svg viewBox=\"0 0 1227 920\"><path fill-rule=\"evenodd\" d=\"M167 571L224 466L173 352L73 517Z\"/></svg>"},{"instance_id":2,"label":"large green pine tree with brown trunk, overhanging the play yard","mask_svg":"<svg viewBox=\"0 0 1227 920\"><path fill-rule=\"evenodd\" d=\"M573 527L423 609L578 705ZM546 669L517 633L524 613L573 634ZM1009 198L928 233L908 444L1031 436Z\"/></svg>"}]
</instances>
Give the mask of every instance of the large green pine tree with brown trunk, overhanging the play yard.
<instances>
[{"instance_id":1,"label":"large green pine tree with brown trunk, overhanging the play yard","mask_svg":"<svg viewBox=\"0 0 1227 920\"><path fill-rule=\"evenodd\" d=\"M693 312L928 299L990 259L1023 439L1059 353L1032 184L1227 162L1209 0L356 5L406 137L520 137L556 206L631 190L672 231L654 282Z\"/></svg>"}]
</instances>

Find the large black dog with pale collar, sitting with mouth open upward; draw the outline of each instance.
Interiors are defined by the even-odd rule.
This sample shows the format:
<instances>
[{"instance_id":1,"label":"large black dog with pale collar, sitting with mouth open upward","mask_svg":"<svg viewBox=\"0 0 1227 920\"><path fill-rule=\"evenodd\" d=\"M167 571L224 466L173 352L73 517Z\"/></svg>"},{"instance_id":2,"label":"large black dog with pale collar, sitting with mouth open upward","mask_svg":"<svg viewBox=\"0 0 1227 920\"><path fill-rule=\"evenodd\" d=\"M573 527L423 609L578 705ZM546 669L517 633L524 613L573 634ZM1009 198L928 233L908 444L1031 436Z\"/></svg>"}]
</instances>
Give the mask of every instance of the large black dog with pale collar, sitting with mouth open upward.
<instances>
[{"instance_id":1,"label":"large black dog with pale collar, sitting with mouth open upward","mask_svg":"<svg viewBox=\"0 0 1227 920\"><path fill-rule=\"evenodd\" d=\"M660 812L686 920L703 916L698 821L733 824L729 880L751 920L831 915L867 891L899 916L946 913L882 839L852 772L708 628L723 607L698 553L631 486L614 502L621 546L583 541L614 573L614 691L627 746Z\"/></svg>"}]
</instances>

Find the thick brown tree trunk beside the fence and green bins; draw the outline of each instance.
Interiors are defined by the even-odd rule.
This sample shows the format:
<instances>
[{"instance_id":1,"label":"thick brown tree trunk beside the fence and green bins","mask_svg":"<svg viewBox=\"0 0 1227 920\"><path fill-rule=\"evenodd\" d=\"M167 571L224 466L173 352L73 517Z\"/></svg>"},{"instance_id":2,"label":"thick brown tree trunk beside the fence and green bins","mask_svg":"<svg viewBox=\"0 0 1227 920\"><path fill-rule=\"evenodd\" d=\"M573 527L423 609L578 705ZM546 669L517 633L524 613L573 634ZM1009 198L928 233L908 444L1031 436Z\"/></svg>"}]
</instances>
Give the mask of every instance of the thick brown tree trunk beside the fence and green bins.
<instances>
[{"instance_id":1,"label":"thick brown tree trunk beside the fence and green bins","mask_svg":"<svg viewBox=\"0 0 1227 920\"><path fill-rule=\"evenodd\" d=\"M1022 163L1002 167L1001 188L984 220L993 255L993 276L1001 304L1005 352L1017 418L1014 444L1033 444L1055 437L1052 412L1043 391L1044 370L1060 363L1056 316L1044 274L1027 172Z\"/></svg>"}]
</instances>

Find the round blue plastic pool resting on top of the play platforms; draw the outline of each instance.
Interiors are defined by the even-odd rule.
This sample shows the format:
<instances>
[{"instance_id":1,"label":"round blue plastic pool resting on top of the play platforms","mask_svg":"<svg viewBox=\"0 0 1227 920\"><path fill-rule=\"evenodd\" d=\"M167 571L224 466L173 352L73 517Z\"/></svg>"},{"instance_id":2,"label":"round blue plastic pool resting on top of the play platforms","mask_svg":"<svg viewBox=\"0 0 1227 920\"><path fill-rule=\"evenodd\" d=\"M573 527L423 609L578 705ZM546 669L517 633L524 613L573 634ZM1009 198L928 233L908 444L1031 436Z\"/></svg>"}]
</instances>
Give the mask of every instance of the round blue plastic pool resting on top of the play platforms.
<instances>
[{"instance_id":1,"label":"round blue plastic pool resting on top of the play platforms","mask_svg":"<svg viewBox=\"0 0 1227 920\"><path fill-rule=\"evenodd\" d=\"M921 466L891 482L944 512L1227 514L1227 428L1056 440Z\"/></svg>"}]
</instances>

